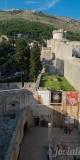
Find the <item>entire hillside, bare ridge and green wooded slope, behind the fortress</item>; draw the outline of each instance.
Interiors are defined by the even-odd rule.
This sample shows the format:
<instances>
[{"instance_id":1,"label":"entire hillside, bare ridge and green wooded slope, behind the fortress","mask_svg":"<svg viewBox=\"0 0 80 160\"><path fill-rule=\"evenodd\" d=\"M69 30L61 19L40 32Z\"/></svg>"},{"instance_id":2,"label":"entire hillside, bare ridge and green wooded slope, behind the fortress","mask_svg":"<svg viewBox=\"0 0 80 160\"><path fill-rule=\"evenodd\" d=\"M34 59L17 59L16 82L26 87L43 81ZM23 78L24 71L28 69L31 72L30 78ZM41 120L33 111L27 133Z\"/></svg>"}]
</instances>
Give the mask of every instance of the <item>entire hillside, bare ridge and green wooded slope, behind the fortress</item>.
<instances>
[{"instance_id":1,"label":"entire hillside, bare ridge and green wooded slope, behind the fortress","mask_svg":"<svg viewBox=\"0 0 80 160\"><path fill-rule=\"evenodd\" d=\"M26 10L0 11L0 35L17 36L22 33L28 41L52 38L52 31L63 28L67 39L80 41L80 21Z\"/></svg>"}]
</instances>

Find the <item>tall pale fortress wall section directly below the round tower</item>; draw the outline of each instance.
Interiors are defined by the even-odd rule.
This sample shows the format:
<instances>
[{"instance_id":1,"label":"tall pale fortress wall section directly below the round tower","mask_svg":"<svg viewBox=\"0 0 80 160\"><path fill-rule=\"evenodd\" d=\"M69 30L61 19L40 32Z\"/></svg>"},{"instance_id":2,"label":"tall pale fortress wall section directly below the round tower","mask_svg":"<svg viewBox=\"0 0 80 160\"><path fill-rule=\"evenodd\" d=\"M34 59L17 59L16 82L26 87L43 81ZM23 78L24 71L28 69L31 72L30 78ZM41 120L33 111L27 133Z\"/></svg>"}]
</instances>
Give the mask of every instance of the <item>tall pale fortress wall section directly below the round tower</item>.
<instances>
[{"instance_id":1,"label":"tall pale fortress wall section directly below the round tower","mask_svg":"<svg viewBox=\"0 0 80 160\"><path fill-rule=\"evenodd\" d=\"M55 68L57 75L64 75L64 59L66 56L72 57L72 45L67 45L59 40L52 41L52 53L55 53Z\"/></svg>"}]
</instances>

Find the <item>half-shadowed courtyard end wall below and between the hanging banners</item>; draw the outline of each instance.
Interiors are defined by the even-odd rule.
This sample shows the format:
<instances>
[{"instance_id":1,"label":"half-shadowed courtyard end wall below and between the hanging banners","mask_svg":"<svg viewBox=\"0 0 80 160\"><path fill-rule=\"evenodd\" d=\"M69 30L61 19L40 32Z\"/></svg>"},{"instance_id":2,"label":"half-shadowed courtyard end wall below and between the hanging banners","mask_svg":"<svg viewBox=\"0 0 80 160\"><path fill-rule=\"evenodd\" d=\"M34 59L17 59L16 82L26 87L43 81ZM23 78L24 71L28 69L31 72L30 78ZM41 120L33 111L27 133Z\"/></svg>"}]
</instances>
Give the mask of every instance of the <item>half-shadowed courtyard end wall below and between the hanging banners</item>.
<instances>
[{"instance_id":1,"label":"half-shadowed courtyard end wall below and between the hanging banners","mask_svg":"<svg viewBox=\"0 0 80 160\"><path fill-rule=\"evenodd\" d=\"M47 127L47 124L51 122L53 127L60 127L60 125L69 127L72 124L74 127L80 128L80 102L77 106L67 106L66 92L61 99L61 102L51 103L49 106L41 104L41 99L38 100L36 110L33 109L35 126Z\"/></svg>"}]
</instances>

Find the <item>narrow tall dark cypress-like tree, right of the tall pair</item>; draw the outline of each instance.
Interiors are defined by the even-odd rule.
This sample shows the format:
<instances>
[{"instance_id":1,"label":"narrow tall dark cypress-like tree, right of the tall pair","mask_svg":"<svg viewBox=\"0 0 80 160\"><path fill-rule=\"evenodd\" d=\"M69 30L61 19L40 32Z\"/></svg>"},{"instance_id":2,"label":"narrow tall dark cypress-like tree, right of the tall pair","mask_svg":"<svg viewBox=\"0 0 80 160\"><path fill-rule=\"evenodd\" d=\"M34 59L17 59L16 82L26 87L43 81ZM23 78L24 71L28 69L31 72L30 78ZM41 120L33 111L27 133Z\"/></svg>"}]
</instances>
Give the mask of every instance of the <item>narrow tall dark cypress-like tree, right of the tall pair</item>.
<instances>
[{"instance_id":1,"label":"narrow tall dark cypress-like tree, right of the tall pair","mask_svg":"<svg viewBox=\"0 0 80 160\"><path fill-rule=\"evenodd\" d=\"M31 50L29 77L31 81L36 81L39 71L42 69L40 61L40 49L35 42Z\"/></svg>"}]
</instances>

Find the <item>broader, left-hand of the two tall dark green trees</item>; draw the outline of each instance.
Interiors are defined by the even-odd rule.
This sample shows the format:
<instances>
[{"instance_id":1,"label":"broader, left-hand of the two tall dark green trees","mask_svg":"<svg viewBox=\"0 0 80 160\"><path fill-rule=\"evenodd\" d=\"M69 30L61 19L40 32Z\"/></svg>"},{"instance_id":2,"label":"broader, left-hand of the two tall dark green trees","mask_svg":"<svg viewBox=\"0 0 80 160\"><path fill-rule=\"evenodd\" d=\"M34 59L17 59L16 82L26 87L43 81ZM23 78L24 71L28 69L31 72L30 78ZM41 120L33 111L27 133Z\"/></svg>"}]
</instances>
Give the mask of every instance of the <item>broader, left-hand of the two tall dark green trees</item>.
<instances>
[{"instance_id":1,"label":"broader, left-hand of the two tall dark green trees","mask_svg":"<svg viewBox=\"0 0 80 160\"><path fill-rule=\"evenodd\" d=\"M29 59L29 46L24 39L19 39L16 42L16 54L14 55L14 60L17 63L18 68L21 68L23 70L27 69L27 71L29 71Z\"/></svg>"}]
</instances>

